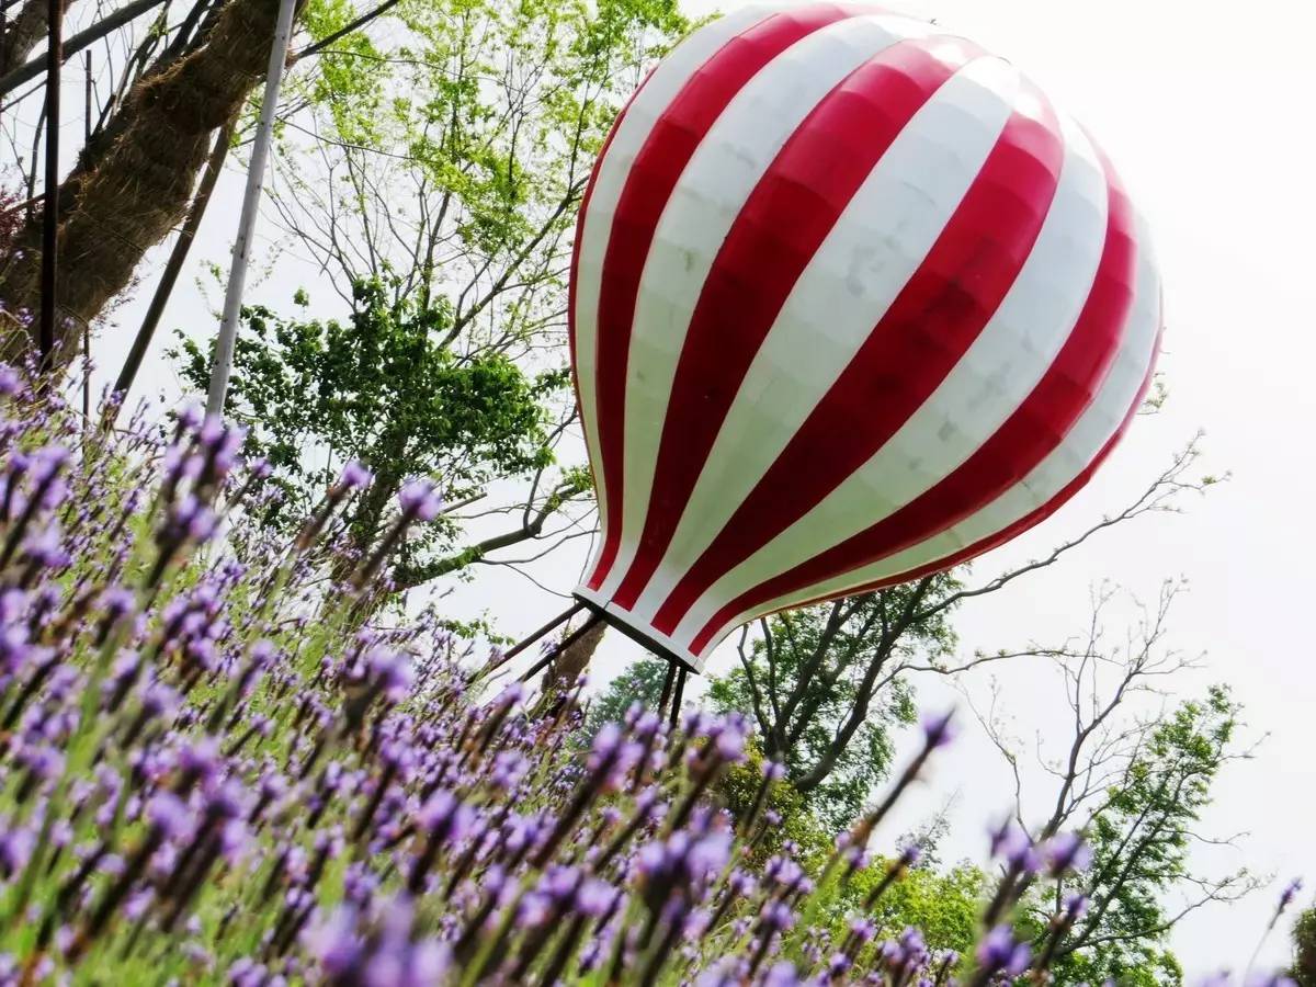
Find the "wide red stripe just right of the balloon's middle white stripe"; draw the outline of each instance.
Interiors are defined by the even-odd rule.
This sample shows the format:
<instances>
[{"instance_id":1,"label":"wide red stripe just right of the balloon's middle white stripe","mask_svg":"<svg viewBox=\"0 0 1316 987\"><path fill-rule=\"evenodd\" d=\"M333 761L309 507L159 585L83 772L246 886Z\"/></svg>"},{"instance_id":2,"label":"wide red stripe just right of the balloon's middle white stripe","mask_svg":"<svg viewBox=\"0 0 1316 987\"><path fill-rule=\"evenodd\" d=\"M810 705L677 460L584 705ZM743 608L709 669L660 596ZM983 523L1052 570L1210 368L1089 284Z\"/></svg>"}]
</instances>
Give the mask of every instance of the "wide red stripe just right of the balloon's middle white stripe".
<instances>
[{"instance_id":1,"label":"wide red stripe just right of the balloon's middle white stripe","mask_svg":"<svg viewBox=\"0 0 1316 987\"><path fill-rule=\"evenodd\" d=\"M1062 161L1054 121L1011 116L923 265L654 626L671 633L709 586L816 507L928 400L1028 259Z\"/></svg>"}]
</instances>

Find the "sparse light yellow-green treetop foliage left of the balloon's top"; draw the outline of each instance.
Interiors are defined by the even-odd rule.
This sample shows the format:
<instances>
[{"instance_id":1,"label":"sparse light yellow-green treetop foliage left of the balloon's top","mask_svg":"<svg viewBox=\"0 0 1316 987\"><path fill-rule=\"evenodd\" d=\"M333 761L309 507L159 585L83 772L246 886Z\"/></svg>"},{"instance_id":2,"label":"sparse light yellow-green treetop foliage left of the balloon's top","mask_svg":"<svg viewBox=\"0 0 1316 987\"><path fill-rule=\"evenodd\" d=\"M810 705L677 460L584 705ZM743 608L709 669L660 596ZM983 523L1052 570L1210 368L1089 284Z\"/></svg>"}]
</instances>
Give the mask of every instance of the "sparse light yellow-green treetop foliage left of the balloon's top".
<instances>
[{"instance_id":1,"label":"sparse light yellow-green treetop foliage left of the balloon's top","mask_svg":"<svg viewBox=\"0 0 1316 987\"><path fill-rule=\"evenodd\" d=\"M312 36L351 7L315 0ZM291 82L315 128L286 136L288 226L349 278L533 336L561 309L594 154L688 24L675 0L403 0L383 20L387 43L354 32Z\"/></svg>"}]
</instances>

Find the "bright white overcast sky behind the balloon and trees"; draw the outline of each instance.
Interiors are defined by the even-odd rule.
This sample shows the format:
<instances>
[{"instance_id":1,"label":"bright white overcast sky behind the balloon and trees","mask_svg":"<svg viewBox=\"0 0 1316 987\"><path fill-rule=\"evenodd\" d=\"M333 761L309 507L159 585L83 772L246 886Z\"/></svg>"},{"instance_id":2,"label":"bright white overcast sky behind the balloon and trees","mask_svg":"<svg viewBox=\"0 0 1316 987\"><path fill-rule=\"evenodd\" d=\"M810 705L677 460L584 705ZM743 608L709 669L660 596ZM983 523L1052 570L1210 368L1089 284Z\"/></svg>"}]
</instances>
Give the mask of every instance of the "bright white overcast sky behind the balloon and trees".
<instances>
[{"instance_id":1,"label":"bright white overcast sky behind the balloon and trees","mask_svg":"<svg viewBox=\"0 0 1316 987\"><path fill-rule=\"evenodd\" d=\"M686 0L695 14L736 5ZM1316 421L1316 62L1309 51L1316 7L1298 0L1228 7L1186 0L898 0L887 7L936 20L1021 67L1100 141L1150 222L1165 282L1166 408L1140 418L1103 472L1065 509L980 559L974 572L986 578L1044 554L1121 508L1199 429L1204 467L1230 479L1186 500L1183 513L1121 525L1041 576L966 604L955 625L965 654L1059 642L1083 632L1094 588L1109 580L1121 595L1105 624L1112 637L1123 637L1137 616L1133 597L1154 603L1165 579L1187 580L1171 615L1170 640L1186 655L1200 655L1200 667L1178 676L1175 692L1188 696L1208 683L1230 684L1245 707L1244 742L1255 745L1250 759L1227 769L1203 820L1205 833L1238 834L1236 849L1203 846L1196 861L1209 871L1246 866L1274 875L1274 882L1233 907L1192 913L1173 941L1190 973L1240 970L1282 884L1307 875L1308 886L1316 886L1316 663L1305 622L1316 534L1303 508L1316 486L1309 441ZM203 262L226 259L241 193L241 174L230 166L164 328L216 322L218 292L205 299L195 279ZM266 217L261 241L268 245L272 236ZM258 278L249 300L286 304L296 278L313 272L280 268ZM116 321L139 321L149 287L150 279ZM101 367L117 368L129 334L105 336L97 351ZM143 380L153 391L176 395L176 378L159 349L149 357ZM534 569L536 580L570 592L583 553L583 542L563 549ZM491 570L458 588L445 605L466 615L488 611L508 633L519 633L561 609L562 600L508 570ZM611 634L595 661L596 679L605 682L638 654L636 645ZM729 661L722 654L712 669ZM983 862L984 825L1012 797L1008 769L967 715L970 700L990 700L994 680L998 711L1025 750L1037 740L1045 750L1049 740L1062 736L1063 694L1045 663L994 666L966 678L958 690L917 683L925 707L962 707L963 734L879 838L894 840L949 804L951 828L942 857ZM905 738L901 750L908 753L911 744ZM1030 759L1024 774L1026 791L1045 791L1045 778ZM1303 903L1311 903L1309 892ZM1287 954L1280 929L1265 944L1262 962L1279 963Z\"/></svg>"}]
</instances>

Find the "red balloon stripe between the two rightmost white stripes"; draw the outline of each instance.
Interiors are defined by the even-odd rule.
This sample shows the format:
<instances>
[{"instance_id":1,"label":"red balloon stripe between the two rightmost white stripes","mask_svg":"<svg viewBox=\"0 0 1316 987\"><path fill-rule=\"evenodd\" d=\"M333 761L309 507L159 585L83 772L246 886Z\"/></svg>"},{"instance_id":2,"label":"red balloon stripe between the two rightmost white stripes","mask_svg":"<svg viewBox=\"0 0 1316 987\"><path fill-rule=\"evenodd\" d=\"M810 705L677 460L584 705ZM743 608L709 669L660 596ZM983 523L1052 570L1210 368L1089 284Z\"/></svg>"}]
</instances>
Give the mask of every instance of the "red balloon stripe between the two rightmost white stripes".
<instances>
[{"instance_id":1,"label":"red balloon stripe between the two rightmost white stripes","mask_svg":"<svg viewBox=\"0 0 1316 987\"><path fill-rule=\"evenodd\" d=\"M801 586L894 555L958 524L1026 476L1092 403L1120 350L1137 276L1133 209L1107 167L1109 215L1101 259L1074 330L1004 424L955 470L899 511L741 594L742 613Z\"/></svg>"}]
</instances>

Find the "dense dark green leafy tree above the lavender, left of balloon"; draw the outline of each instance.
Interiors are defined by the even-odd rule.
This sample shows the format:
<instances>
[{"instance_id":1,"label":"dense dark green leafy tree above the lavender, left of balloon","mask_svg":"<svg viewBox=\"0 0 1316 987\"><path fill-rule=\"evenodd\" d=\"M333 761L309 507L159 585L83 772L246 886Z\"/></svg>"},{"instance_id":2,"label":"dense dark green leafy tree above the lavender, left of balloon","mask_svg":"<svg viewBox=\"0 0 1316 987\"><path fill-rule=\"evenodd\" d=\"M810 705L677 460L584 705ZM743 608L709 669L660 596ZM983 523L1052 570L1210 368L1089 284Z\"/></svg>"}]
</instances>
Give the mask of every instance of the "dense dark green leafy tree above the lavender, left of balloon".
<instances>
[{"instance_id":1,"label":"dense dark green leafy tree above the lavender, left of balloon","mask_svg":"<svg viewBox=\"0 0 1316 987\"><path fill-rule=\"evenodd\" d=\"M375 474L349 515L355 553L379 541L388 505L409 476L441 478L449 501L461 504L478 500L494 479L534 474L536 512L526 513L522 538L541 534L550 516L582 495L582 470L559 472L546 490L542 484L553 466L550 443L566 428L549 420L545 400L566 387L565 371L528 378L497 351L462 359L443 345L443 308L395 300L376 282L358 283L353 304L347 322L246 311L226 409L247 425L246 451L268 459L268 482L284 495L268 501L266 524L299 524L349 458ZM204 393L211 353L184 336L176 355L187 383ZM397 588L513 542L488 538L458 547L458 534L451 521L428 525L401 546Z\"/></svg>"}]
</instances>

